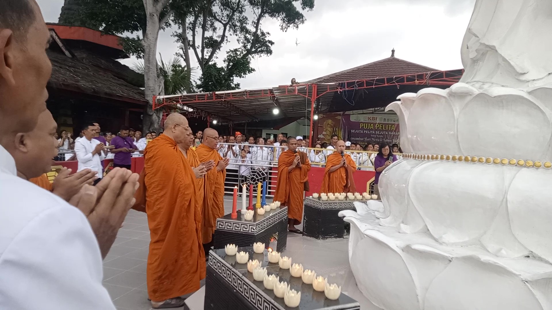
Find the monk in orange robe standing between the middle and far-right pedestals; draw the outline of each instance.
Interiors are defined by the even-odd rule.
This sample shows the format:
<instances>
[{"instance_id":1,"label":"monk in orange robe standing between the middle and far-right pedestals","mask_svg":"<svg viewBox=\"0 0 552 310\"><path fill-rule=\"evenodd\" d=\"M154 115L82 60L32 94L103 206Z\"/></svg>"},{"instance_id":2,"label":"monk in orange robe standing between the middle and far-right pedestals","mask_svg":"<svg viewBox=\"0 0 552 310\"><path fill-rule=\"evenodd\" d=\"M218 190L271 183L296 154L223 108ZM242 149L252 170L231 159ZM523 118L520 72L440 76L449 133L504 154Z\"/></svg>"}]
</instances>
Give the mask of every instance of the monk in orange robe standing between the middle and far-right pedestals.
<instances>
[{"instance_id":1,"label":"monk in orange robe standing between the middle and far-right pedestals","mask_svg":"<svg viewBox=\"0 0 552 310\"><path fill-rule=\"evenodd\" d=\"M298 142L288 137L288 149L278 158L278 184L274 201L288 206L288 230L301 233L295 225L303 216L303 191L309 179L310 162L306 153L297 151Z\"/></svg>"}]
</instances>

